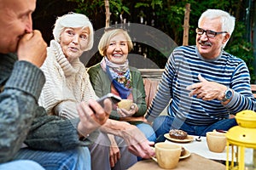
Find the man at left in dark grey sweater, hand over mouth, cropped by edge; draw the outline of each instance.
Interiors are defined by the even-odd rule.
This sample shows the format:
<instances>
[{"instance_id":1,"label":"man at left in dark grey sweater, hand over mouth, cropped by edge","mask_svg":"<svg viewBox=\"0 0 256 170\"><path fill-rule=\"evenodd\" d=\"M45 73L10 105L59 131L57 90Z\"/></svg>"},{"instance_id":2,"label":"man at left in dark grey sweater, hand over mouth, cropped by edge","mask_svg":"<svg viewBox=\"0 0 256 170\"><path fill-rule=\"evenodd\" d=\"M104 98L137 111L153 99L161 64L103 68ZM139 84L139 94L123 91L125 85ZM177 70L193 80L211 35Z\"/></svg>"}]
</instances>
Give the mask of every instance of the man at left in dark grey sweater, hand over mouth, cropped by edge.
<instances>
[{"instance_id":1,"label":"man at left in dark grey sweater, hand over mouth, cropped by edge","mask_svg":"<svg viewBox=\"0 0 256 170\"><path fill-rule=\"evenodd\" d=\"M38 105L47 44L32 30L35 8L36 0L0 3L0 169L90 169L90 152L79 146L108 120L111 101L104 109L96 100L80 102L72 120L47 116Z\"/></svg>"}]
</instances>

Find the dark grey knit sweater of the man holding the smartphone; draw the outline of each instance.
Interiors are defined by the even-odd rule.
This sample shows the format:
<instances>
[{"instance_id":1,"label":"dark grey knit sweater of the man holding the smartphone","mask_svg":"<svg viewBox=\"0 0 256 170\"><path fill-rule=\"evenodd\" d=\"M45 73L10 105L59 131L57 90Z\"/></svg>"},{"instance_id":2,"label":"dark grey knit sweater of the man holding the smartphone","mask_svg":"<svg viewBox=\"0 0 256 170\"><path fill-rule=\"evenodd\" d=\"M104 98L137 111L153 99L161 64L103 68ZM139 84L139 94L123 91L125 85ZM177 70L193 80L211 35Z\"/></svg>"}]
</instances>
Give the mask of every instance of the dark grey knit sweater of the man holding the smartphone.
<instances>
[{"instance_id":1,"label":"dark grey knit sweater of the man holding the smartphone","mask_svg":"<svg viewBox=\"0 0 256 170\"><path fill-rule=\"evenodd\" d=\"M47 116L38 106L44 82L35 65L17 61L15 54L0 54L0 163L12 160L22 143L53 151L90 144L79 140L79 118Z\"/></svg>"}]
</instances>

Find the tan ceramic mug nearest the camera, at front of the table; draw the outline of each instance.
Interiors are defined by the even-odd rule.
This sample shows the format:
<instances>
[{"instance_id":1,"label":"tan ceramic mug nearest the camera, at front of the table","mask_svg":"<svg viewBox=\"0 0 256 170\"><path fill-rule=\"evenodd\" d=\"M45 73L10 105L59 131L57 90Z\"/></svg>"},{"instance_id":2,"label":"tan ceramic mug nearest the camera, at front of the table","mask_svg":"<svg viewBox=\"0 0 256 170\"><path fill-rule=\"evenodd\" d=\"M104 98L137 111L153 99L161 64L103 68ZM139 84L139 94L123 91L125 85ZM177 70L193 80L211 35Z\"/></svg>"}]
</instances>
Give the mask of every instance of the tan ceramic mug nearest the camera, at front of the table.
<instances>
[{"instance_id":1,"label":"tan ceramic mug nearest the camera, at front of the table","mask_svg":"<svg viewBox=\"0 0 256 170\"><path fill-rule=\"evenodd\" d=\"M156 158L153 157L152 159L156 161L160 167L165 169L177 167L181 154L181 145L160 142L154 144L154 150Z\"/></svg>"}]
</instances>

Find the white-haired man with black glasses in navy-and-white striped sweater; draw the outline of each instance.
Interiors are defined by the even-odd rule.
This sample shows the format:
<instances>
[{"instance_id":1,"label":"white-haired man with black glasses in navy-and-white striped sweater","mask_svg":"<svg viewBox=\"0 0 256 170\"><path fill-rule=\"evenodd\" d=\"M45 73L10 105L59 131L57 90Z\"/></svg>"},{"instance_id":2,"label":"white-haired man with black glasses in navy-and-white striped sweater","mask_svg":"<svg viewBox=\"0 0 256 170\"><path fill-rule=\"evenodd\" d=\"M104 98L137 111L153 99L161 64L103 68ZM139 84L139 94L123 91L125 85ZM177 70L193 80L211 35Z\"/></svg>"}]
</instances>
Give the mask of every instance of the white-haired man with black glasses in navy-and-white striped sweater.
<instances>
[{"instance_id":1,"label":"white-haired man with black glasses in navy-and-white striped sweater","mask_svg":"<svg viewBox=\"0 0 256 170\"><path fill-rule=\"evenodd\" d=\"M224 51L234 27L233 16L207 9L195 30L196 46L174 49L146 114L157 141L170 129L203 136L213 129L229 130L237 125L230 116L255 111L246 63ZM168 116L159 116L168 104Z\"/></svg>"}]
</instances>

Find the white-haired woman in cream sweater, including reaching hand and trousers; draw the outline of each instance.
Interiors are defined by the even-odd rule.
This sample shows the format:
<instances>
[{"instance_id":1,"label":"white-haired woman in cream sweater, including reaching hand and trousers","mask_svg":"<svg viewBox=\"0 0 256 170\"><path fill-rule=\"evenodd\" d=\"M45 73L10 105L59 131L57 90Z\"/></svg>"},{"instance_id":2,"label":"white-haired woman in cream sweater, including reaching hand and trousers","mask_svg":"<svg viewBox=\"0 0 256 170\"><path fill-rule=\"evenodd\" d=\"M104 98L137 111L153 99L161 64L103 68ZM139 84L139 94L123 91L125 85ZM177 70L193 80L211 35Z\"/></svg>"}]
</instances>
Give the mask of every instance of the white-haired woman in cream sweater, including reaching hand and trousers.
<instances>
[{"instance_id":1,"label":"white-haired woman in cream sweater, including reaching hand and trousers","mask_svg":"<svg viewBox=\"0 0 256 170\"><path fill-rule=\"evenodd\" d=\"M76 109L79 102L87 103L89 99L98 99L90 84L85 66L79 60L84 51L92 48L93 34L90 20L84 14L64 14L55 21L53 29L55 39L50 42L47 48L47 59L41 66L46 75L46 83L39 98L39 105L44 106L49 115L73 119L79 116L79 111ZM100 133L98 137L95 135L88 137L93 142L93 146L97 146L95 150L90 150L92 169L110 169L111 167L108 159L109 149L106 151L106 145L99 143L101 140L105 144L108 143L108 139L101 138L106 133L125 139L125 144L137 156L149 158L154 155L154 151L150 148L150 144L154 143L149 143L143 133L129 123L108 119L100 130L104 135ZM124 159L119 164L121 166L119 168L128 168L136 162L132 159L133 157L136 159L136 156L128 150L122 150L121 155ZM99 160L101 160L100 164Z\"/></svg>"}]
</instances>

